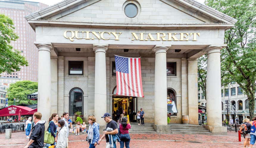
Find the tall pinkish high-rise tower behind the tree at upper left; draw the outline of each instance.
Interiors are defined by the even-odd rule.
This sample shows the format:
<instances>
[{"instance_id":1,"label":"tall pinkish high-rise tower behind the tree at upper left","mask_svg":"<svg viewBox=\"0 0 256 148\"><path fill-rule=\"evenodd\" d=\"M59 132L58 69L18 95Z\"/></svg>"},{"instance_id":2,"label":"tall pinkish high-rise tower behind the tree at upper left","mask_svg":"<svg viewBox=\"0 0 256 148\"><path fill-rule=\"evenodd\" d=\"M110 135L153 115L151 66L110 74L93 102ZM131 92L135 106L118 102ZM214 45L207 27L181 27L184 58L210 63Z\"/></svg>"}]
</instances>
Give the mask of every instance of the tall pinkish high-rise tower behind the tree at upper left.
<instances>
[{"instance_id":1,"label":"tall pinkish high-rise tower behind the tree at upper left","mask_svg":"<svg viewBox=\"0 0 256 148\"><path fill-rule=\"evenodd\" d=\"M29 62L29 66L21 67L20 71L2 73L1 77L38 81L38 49L34 45L35 31L29 26L24 17L44 7L48 7L48 5L32 1L0 1L0 13L13 19L15 33L19 36L17 41L12 42L12 46L14 49L18 49Z\"/></svg>"}]
</instances>

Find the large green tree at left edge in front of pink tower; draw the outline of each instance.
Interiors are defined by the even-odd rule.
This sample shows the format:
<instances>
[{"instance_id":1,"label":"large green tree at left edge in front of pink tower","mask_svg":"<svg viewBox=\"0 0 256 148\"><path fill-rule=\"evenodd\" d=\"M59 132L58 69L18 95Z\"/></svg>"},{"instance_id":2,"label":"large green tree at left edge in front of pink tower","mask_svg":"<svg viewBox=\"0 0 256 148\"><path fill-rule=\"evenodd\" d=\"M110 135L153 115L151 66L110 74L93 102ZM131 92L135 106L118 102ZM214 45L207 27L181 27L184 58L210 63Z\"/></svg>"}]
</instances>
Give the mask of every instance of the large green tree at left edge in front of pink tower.
<instances>
[{"instance_id":1,"label":"large green tree at left edge in front of pink tower","mask_svg":"<svg viewBox=\"0 0 256 148\"><path fill-rule=\"evenodd\" d=\"M14 29L13 20L0 14L0 73L12 73L19 71L20 66L28 66L25 57L11 46L11 41L18 39Z\"/></svg>"}]
</instances>

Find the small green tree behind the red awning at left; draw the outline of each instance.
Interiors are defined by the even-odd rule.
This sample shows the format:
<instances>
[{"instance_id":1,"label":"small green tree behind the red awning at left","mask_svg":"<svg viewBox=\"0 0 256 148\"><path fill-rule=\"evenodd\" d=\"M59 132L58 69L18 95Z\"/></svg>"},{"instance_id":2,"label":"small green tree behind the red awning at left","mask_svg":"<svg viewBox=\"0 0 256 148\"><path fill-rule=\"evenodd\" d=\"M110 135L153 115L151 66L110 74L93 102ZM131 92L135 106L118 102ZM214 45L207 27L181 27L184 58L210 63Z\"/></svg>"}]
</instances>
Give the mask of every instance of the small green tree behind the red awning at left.
<instances>
[{"instance_id":1,"label":"small green tree behind the red awning at left","mask_svg":"<svg viewBox=\"0 0 256 148\"><path fill-rule=\"evenodd\" d=\"M37 101L27 99L28 94L38 91L38 83L32 81L17 81L7 89L8 105L13 105L13 99L19 99L19 104L36 104Z\"/></svg>"}]
</instances>

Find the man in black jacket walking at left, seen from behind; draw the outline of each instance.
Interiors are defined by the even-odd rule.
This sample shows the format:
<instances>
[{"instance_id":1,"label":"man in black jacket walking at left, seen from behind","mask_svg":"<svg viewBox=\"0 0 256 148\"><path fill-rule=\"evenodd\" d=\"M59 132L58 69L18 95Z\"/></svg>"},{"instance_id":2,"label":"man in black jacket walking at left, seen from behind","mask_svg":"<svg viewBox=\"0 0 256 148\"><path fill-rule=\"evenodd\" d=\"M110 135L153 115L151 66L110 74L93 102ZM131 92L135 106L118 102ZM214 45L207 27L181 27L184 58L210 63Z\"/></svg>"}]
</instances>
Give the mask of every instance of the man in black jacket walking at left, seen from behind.
<instances>
[{"instance_id":1,"label":"man in black jacket walking at left, seen from behind","mask_svg":"<svg viewBox=\"0 0 256 148\"><path fill-rule=\"evenodd\" d=\"M35 112L33 115L33 120L35 122L35 126L32 128L32 133L30 135L30 139L28 144L24 148L38 148L43 147L44 141L44 124L46 121L41 120L42 114L40 112Z\"/></svg>"}]
</instances>

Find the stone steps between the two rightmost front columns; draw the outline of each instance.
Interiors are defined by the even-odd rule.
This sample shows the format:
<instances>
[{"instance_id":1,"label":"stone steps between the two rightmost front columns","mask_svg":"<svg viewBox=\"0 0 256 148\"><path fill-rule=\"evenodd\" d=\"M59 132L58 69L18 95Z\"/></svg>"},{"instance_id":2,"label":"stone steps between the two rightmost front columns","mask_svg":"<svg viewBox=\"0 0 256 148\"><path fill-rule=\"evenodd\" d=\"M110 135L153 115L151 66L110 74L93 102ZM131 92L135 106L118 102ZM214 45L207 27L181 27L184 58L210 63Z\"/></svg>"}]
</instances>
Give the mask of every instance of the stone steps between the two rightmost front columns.
<instances>
[{"instance_id":1,"label":"stone steps between the two rightmost front columns","mask_svg":"<svg viewBox=\"0 0 256 148\"><path fill-rule=\"evenodd\" d=\"M199 125L191 124L168 124L171 126L171 134L201 134L212 135L207 129Z\"/></svg>"}]
</instances>

